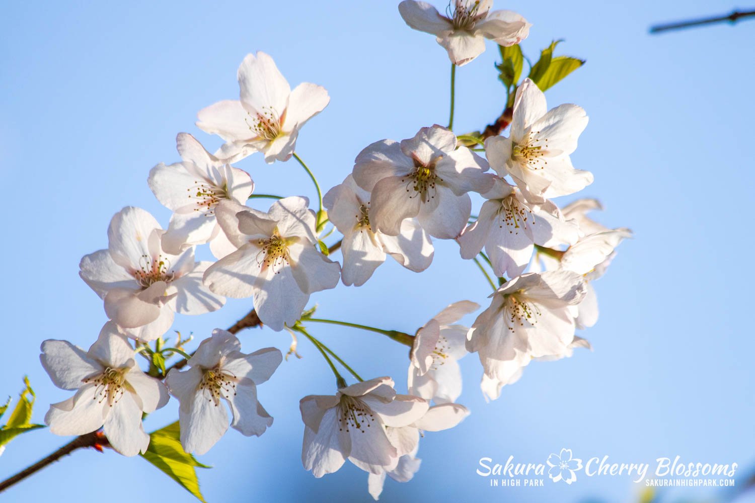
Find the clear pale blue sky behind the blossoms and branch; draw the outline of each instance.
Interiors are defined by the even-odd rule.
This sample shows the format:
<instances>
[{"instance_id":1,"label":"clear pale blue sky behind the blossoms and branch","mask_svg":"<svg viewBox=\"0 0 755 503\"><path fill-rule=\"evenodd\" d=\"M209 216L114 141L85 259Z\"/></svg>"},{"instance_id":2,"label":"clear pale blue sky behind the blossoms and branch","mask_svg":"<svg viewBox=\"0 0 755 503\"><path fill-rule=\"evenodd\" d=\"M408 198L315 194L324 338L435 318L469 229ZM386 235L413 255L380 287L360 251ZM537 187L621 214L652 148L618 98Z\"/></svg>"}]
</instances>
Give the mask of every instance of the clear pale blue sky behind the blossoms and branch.
<instances>
[{"instance_id":1,"label":"clear pale blue sky behind the blossoms and branch","mask_svg":"<svg viewBox=\"0 0 755 503\"><path fill-rule=\"evenodd\" d=\"M167 225L170 213L146 185L155 164L178 160L176 133L213 150L217 137L194 125L196 112L237 99L245 54L272 54L291 87L325 86L331 104L300 133L297 152L323 186L350 173L356 154L382 138L413 136L448 121L445 51L403 23L397 2L5 2L0 20L0 156L5 189L0 248L5 291L0 394L16 395L28 374L38 396L34 419L68 397L39 363L44 339L88 348L106 321L102 302L78 277L79 259L106 247L113 213L134 205ZM445 5L439 5L443 8ZM522 44L536 58L553 38L559 54L587 60L547 92L549 106L578 103L590 115L575 165L595 182L602 223L633 229L605 278L602 311L583 333L594 351L533 363L521 381L485 403L475 355L462 360L472 414L458 428L427 434L421 471L388 480L386 501L633 501L641 486L593 477L541 489L491 488L476 475L482 456L544 462L574 449L587 459L736 462L743 480L755 466L752 311L755 23L743 21L647 34L650 24L725 14L729 2L496 2L534 24ZM493 64L497 48L457 72L458 133L484 127L503 108ZM314 195L293 161L238 164L258 192ZM562 198L564 204L572 198ZM267 201L255 201L267 209ZM322 317L413 333L461 299L487 302L488 286L453 242L436 241L433 265L416 275L387 262L365 287L340 285L313 296ZM174 329L202 339L242 317L251 300L233 300ZM467 320L469 323L472 317ZM406 348L373 333L312 327L362 376L390 375L405 386ZM286 333L249 330L245 351ZM263 437L230 431L201 461L208 501L371 501L367 474L344 465L316 480L300 463L298 401L331 394L334 379L306 342L259 389L275 417ZM176 417L174 400L146 421ZM0 457L5 478L69 439L48 431L19 437ZM165 489L193 501L143 459L75 452L20 483L3 501L137 501ZM681 489L671 500L722 492Z\"/></svg>"}]
</instances>

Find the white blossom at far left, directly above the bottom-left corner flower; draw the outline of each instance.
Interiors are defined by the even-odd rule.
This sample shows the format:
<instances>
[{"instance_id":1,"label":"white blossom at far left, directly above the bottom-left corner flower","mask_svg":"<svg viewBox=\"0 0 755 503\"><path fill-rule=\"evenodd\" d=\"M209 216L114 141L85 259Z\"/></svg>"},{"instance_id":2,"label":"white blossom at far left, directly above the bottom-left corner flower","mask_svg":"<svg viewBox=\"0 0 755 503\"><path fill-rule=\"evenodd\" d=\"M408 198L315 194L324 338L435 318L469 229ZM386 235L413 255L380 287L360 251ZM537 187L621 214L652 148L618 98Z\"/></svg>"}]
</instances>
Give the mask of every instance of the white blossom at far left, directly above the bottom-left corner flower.
<instances>
[{"instance_id":1,"label":"white blossom at far left, directly above the bottom-left corner flower","mask_svg":"<svg viewBox=\"0 0 755 503\"><path fill-rule=\"evenodd\" d=\"M107 316L132 339L157 339L175 312L204 314L225 302L202 284L211 262L195 262L193 247L165 252L164 232L145 210L125 207L110 220L108 249L79 264L79 276L104 299Z\"/></svg>"}]
</instances>

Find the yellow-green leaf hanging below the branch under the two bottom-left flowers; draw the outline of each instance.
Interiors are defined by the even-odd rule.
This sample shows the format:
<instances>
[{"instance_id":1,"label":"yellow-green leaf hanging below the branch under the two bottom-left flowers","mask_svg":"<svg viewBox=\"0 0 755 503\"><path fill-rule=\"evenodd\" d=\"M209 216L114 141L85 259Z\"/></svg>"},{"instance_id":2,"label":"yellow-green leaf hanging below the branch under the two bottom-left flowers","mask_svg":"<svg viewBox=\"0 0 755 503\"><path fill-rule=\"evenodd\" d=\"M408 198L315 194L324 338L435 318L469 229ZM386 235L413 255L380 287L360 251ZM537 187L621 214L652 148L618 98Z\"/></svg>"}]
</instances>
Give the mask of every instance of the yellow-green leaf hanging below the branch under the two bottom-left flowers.
<instances>
[{"instance_id":1,"label":"yellow-green leaf hanging below the branch under the two bottom-left flowers","mask_svg":"<svg viewBox=\"0 0 755 503\"><path fill-rule=\"evenodd\" d=\"M202 465L193 455L184 452L180 443L178 422L149 434L149 447L141 456L163 473L191 492L199 501L206 503L199 492L199 480L195 468L210 468Z\"/></svg>"}]
</instances>

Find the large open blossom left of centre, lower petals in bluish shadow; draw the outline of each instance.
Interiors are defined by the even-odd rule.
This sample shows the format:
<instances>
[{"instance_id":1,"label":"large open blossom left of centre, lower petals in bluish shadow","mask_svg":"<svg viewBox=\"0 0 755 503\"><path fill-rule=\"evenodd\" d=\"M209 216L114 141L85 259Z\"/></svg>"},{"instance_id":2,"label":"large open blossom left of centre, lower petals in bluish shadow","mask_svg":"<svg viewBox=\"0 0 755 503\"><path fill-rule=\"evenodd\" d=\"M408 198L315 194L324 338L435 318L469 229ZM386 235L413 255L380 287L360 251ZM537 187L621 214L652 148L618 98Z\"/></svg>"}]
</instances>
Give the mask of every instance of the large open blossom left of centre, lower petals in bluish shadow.
<instances>
[{"instance_id":1,"label":"large open blossom left of centre, lower petals in bluish shadow","mask_svg":"<svg viewBox=\"0 0 755 503\"><path fill-rule=\"evenodd\" d=\"M317 249L315 214L307 198L273 203L269 213L222 201L218 222L237 247L207 271L204 281L218 295L253 297L263 324L293 327L310 293L333 288L341 267Z\"/></svg>"}]
</instances>

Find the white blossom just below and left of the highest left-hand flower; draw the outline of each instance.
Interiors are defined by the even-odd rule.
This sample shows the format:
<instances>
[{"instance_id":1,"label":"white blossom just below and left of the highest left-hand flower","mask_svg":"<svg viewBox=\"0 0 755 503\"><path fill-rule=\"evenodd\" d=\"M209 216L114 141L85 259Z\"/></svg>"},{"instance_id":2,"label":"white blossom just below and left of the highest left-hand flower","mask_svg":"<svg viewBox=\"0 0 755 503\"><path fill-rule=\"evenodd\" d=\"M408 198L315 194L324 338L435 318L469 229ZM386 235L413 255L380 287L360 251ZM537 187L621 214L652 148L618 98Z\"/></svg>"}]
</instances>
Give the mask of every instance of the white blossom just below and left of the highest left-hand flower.
<instances>
[{"instance_id":1,"label":"white blossom just below and left of the highest left-hand flower","mask_svg":"<svg viewBox=\"0 0 755 503\"><path fill-rule=\"evenodd\" d=\"M176 146L183 161L158 164L147 180L156 198L174 212L162 247L180 253L209 243L214 256L222 259L236 247L217 225L215 207L224 199L245 204L254 183L248 173L211 155L189 133L178 133Z\"/></svg>"}]
</instances>

